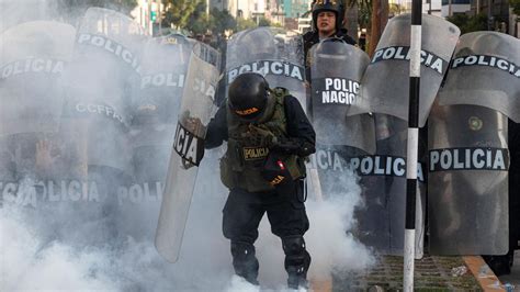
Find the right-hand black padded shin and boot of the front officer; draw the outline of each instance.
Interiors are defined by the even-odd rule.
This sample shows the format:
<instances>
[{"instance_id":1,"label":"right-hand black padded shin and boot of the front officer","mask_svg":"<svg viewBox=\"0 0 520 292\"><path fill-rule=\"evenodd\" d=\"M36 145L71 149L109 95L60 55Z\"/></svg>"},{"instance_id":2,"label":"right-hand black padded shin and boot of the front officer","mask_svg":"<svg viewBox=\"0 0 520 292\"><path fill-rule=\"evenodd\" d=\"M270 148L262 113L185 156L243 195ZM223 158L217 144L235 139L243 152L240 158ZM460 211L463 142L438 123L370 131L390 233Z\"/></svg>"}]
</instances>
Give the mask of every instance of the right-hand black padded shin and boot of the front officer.
<instances>
[{"instance_id":1,"label":"right-hand black padded shin and boot of the front officer","mask_svg":"<svg viewBox=\"0 0 520 292\"><path fill-rule=\"evenodd\" d=\"M290 289L308 289L307 270L310 266L310 255L305 250L305 240L302 236L282 238L285 252L285 270L287 271L287 287Z\"/></svg>"}]
</instances>

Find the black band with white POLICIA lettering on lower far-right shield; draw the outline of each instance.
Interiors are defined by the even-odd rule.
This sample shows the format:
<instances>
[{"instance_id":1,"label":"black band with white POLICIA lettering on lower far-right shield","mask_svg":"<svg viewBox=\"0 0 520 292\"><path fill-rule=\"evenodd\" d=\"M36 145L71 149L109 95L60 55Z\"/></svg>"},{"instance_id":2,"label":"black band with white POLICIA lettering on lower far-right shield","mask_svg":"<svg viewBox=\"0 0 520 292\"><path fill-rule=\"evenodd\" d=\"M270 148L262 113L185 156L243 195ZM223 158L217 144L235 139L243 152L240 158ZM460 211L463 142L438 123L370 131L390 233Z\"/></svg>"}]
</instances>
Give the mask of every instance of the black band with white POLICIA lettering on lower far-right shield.
<instances>
[{"instance_id":1,"label":"black band with white POLICIA lettering on lower far-right shield","mask_svg":"<svg viewBox=\"0 0 520 292\"><path fill-rule=\"evenodd\" d=\"M430 150L430 171L507 170L509 153L505 148L448 148Z\"/></svg>"}]
</instances>

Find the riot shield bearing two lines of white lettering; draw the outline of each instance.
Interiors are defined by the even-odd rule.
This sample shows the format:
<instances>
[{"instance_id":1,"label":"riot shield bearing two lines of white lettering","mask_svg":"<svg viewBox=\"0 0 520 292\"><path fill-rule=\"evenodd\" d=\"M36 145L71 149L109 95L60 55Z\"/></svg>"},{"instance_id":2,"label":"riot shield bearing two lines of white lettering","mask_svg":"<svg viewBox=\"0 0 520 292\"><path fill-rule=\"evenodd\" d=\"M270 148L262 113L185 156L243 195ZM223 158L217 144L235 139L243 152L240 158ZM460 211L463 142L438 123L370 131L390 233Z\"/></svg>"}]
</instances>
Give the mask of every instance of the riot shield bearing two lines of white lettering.
<instances>
[{"instance_id":1,"label":"riot shield bearing two lines of white lettering","mask_svg":"<svg viewBox=\"0 0 520 292\"><path fill-rule=\"evenodd\" d=\"M359 99L369 56L344 42L326 40L313 47L310 57L313 124L318 144L350 146L373 154L372 117L347 116Z\"/></svg>"}]
</instances>

